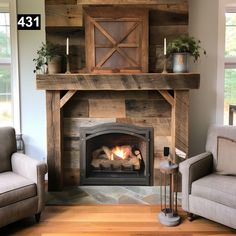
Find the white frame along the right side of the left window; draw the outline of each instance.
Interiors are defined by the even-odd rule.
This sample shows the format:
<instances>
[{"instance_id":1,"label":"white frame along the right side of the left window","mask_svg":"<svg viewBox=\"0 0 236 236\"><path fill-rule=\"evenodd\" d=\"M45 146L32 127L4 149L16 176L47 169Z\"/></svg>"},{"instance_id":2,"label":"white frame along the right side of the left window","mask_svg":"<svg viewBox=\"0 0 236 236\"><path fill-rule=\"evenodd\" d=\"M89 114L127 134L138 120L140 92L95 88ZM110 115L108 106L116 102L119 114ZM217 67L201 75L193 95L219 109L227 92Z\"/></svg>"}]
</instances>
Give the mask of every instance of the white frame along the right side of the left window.
<instances>
[{"instance_id":1,"label":"white frame along the right side of the left window","mask_svg":"<svg viewBox=\"0 0 236 236\"><path fill-rule=\"evenodd\" d=\"M16 0L1 0L0 12L10 13L12 125L16 133L21 133Z\"/></svg>"}]
</instances>

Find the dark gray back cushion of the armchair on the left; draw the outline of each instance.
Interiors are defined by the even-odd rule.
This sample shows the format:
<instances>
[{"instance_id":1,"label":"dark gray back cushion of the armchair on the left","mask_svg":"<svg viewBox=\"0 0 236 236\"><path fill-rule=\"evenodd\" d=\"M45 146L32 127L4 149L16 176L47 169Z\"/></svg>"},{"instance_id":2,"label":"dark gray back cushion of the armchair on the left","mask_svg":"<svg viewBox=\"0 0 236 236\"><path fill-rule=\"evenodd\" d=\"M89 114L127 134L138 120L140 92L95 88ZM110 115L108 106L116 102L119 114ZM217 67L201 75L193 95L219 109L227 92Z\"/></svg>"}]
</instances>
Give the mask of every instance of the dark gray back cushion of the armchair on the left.
<instances>
[{"instance_id":1,"label":"dark gray back cushion of the armchair on the left","mask_svg":"<svg viewBox=\"0 0 236 236\"><path fill-rule=\"evenodd\" d=\"M0 128L0 173L11 170L11 155L16 152L16 135L12 127Z\"/></svg>"}]
</instances>

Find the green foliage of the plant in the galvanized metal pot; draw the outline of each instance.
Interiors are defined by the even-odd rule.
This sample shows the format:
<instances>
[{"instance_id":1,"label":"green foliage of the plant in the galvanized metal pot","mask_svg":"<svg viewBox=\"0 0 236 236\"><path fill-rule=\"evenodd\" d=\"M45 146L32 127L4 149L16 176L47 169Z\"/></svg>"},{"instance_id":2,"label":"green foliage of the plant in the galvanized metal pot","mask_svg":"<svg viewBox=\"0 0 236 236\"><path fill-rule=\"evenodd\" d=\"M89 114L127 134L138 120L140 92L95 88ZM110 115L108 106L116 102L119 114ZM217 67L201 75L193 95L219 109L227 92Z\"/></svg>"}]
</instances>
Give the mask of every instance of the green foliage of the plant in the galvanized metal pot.
<instances>
[{"instance_id":1,"label":"green foliage of the plant in the galvanized metal pot","mask_svg":"<svg viewBox=\"0 0 236 236\"><path fill-rule=\"evenodd\" d=\"M200 52L206 55L206 50L201 46L201 41L191 36L182 35L167 45L167 56L173 53L189 53L194 58L194 62L200 57Z\"/></svg>"}]
</instances>

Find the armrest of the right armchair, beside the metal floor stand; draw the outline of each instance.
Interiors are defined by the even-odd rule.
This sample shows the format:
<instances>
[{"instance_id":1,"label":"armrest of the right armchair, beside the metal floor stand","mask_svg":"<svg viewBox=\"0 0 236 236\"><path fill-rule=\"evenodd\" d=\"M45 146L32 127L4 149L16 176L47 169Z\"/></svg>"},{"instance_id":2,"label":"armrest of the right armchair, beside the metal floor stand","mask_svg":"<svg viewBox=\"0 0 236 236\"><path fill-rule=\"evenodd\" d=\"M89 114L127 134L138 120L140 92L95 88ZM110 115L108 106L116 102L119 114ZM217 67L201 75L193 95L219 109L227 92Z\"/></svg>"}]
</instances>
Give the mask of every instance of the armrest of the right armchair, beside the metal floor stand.
<instances>
[{"instance_id":1,"label":"armrest of the right armchair, beside the metal floor stand","mask_svg":"<svg viewBox=\"0 0 236 236\"><path fill-rule=\"evenodd\" d=\"M182 208L189 211L189 194L192 182L208 175L213 170L213 156L211 152L204 152L191 157L179 164L182 174Z\"/></svg>"}]
</instances>

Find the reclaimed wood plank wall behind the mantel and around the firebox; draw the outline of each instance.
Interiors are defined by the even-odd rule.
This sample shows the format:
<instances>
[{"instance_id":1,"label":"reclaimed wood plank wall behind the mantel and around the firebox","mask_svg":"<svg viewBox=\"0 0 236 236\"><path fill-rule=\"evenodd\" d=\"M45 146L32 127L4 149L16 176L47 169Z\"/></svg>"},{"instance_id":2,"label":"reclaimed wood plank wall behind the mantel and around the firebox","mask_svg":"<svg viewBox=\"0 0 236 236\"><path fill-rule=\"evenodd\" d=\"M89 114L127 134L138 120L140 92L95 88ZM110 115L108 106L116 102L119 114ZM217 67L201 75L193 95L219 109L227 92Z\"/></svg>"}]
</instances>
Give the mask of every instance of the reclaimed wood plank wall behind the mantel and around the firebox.
<instances>
[{"instance_id":1,"label":"reclaimed wood plank wall behind the mantel and around the firebox","mask_svg":"<svg viewBox=\"0 0 236 236\"><path fill-rule=\"evenodd\" d=\"M188 33L187 0L109 1L112 4L129 2L135 7L149 8L149 72L163 69L163 39L167 42ZM82 20L83 4L102 4L103 1L45 0L46 39L61 46L65 54L66 38L70 37L70 66L72 72L85 67L85 40ZM140 3L140 1L139 1ZM171 67L168 62L168 68ZM63 71L66 70L65 60ZM99 106L98 106L99 104ZM77 92L63 109L64 119L64 185L79 185L80 126L107 122L122 122L154 127L155 170L163 147L171 145L171 107L157 91ZM183 147L187 151L188 147ZM154 185L158 184L155 171Z\"/></svg>"}]
</instances>

